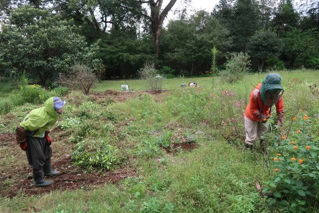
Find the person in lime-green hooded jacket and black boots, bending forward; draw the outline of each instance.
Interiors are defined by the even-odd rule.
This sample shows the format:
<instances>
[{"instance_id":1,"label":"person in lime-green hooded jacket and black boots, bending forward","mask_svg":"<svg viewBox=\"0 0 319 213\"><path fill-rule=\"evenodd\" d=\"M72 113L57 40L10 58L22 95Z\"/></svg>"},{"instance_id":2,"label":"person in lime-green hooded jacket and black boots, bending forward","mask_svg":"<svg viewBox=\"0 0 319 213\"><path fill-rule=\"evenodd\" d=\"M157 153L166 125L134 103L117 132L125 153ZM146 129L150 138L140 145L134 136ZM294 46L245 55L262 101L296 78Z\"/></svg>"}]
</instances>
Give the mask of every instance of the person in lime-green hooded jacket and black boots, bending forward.
<instances>
[{"instance_id":1,"label":"person in lime-green hooded jacket and black boots, bending forward","mask_svg":"<svg viewBox=\"0 0 319 213\"><path fill-rule=\"evenodd\" d=\"M26 152L30 167L33 169L34 186L46 187L53 181L43 180L44 176L58 175L59 171L51 170L52 139L49 129L63 112L65 101L59 97L51 97L44 106L32 110L16 127L16 141L21 150Z\"/></svg>"}]
</instances>

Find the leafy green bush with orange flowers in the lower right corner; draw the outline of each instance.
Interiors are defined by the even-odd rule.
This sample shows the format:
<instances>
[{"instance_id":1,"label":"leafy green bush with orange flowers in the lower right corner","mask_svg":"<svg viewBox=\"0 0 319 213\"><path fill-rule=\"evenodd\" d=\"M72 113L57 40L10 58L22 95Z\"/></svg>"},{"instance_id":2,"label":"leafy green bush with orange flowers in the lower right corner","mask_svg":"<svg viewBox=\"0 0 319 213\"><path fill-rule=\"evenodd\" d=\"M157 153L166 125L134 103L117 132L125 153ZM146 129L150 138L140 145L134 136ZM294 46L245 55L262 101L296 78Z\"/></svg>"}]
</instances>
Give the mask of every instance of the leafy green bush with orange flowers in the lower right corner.
<instances>
[{"instance_id":1,"label":"leafy green bush with orange flowers in the lower right corner","mask_svg":"<svg viewBox=\"0 0 319 213\"><path fill-rule=\"evenodd\" d=\"M314 118L316 119L316 118ZM319 138L311 132L311 118L308 115L299 121L293 118L292 131L283 137L275 137L273 147L277 153L272 157L273 178L266 182L263 192L277 199L287 212L306 212L304 206L319 208Z\"/></svg>"}]
</instances>

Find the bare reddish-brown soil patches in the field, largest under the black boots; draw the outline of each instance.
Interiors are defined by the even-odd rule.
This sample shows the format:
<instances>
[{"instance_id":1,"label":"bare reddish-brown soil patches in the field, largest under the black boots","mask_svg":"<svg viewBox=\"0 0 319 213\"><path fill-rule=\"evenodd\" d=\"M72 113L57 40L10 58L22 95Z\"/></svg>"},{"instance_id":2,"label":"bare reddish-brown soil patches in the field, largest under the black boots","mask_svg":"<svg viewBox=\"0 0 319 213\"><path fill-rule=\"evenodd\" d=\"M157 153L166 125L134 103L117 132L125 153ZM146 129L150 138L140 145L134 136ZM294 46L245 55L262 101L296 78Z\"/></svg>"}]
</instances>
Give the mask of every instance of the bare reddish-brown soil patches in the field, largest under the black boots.
<instances>
[{"instance_id":1,"label":"bare reddish-brown soil patches in the field, largest under the black boots","mask_svg":"<svg viewBox=\"0 0 319 213\"><path fill-rule=\"evenodd\" d=\"M161 93L148 91L155 99L161 100ZM94 93L96 98L114 98L115 101L123 102L127 98L140 95L143 92L117 92L107 90L105 92ZM59 131L59 130L55 130ZM58 134L63 135L63 134ZM177 137L182 138L178 135ZM181 142L186 139L182 138ZM80 168L72 164L70 156L70 143L64 137L54 138L52 142L53 157L52 157L52 170L60 171L58 176L45 177L45 180L53 180L54 183L48 187L34 187L32 168L30 168L26 161L26 156L21 151L15 142L14 133L0 134L0 149L6 148L12 156L16 159L21 158L21 164L18 166L11 166L9 169L3 170L0 165L0 196L1 197L14 197L16 195L31 196L50 193L51 191L64 191L76 189L89 189L92 187L103 186L107 183L116 184L127 177L134 177L136 170L130 164L123 165L114 171L108 172L90 172L82 171ZM55 142L55 143L54 143ZM9 147L7 147L9 146ZM171 147L165 148L169 154L178 152L181 148L183 150L192 149L195 143L179 143L173 144ZM58 150L58 153L56 151ZM7 168L7 167L6 167ZM17 181L18 180L18 181ZM14 182L14 184L12 184Z\"/></svg>"}]
</instances>

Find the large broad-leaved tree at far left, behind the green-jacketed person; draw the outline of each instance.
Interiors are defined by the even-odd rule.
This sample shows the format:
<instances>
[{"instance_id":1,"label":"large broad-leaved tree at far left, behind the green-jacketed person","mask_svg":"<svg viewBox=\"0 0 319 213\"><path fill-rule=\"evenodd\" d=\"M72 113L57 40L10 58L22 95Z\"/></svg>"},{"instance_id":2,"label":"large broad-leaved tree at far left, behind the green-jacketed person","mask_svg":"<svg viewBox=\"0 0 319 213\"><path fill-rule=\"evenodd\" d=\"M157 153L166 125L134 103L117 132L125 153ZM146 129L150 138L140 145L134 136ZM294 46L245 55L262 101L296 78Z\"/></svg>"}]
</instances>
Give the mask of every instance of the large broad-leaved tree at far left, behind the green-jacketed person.
<instances>
[{"instance_id":1,"label":"large broad-leaved tree at far left, behind the green-jacketed person","mask_svg":"<svg viewBox=\"0 0 319 213\"><path fill-rule=\"evenodd\" d=\"M95 71L102 63L72 24L50 16L48 10L19 7L0 32L0 65L17 75L25 70L44 86L49 77L65 72L73 63L85 62Z\"/></svg>"}]
</instances>

